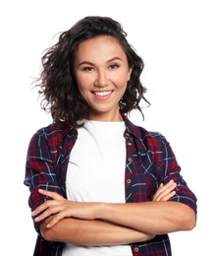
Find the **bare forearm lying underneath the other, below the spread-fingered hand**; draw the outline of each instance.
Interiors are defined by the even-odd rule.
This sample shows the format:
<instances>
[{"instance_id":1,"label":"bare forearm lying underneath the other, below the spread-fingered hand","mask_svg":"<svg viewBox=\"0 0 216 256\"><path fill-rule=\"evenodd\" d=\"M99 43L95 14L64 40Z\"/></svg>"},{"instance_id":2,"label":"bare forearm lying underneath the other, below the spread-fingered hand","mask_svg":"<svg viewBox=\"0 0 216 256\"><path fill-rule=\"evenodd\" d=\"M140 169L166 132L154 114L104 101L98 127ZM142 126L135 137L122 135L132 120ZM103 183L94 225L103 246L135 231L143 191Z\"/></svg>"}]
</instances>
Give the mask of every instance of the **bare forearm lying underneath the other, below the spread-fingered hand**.
<instances>
[{"instance_id":1,"label":"bare forearm lying underneath the other, below the spread-fingered hand","mask_svg":"<svg viewBox=\"0 0 216 256\"><path fill-rule=\"evenodd\" d=\"M46 224L50 222L49 219L40 225L40 230L45 239L52 241L96 246L130 244L154 237L152 234L117 224L73 218L63 219L51 228L47 228Z\"/></svg>"}]
</instances>

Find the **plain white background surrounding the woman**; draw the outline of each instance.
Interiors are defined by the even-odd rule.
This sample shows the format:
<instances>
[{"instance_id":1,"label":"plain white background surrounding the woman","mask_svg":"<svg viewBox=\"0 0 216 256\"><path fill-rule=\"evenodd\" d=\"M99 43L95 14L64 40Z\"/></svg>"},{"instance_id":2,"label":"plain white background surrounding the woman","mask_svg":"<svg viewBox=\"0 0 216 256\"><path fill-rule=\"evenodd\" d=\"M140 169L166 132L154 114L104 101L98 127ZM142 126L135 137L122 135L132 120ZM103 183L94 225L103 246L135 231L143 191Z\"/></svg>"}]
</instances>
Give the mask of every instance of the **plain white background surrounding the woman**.
<instances>
[{"instance_id":1,"label":"plain white background surrounding the woman","mask_svg":"<svg viewBox=\"0 0 216 256\"><path fill-rule=\"evenodd\" d=\"M151 106L131 119L159 131L198 199L196 227L171 234L174 256L213 255L215 234L216 7L209 0L1 1L1 251L32 255L35 231L23 184L27 146L51 122L40 110L31 77L42 51L87 15L123 24L142 56L142 82ZM212 235L213 234L213 235Z\"/></svg>"}]
</instances>

